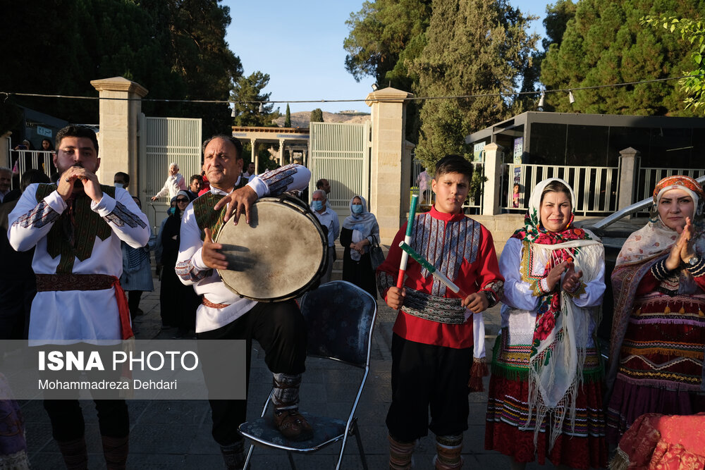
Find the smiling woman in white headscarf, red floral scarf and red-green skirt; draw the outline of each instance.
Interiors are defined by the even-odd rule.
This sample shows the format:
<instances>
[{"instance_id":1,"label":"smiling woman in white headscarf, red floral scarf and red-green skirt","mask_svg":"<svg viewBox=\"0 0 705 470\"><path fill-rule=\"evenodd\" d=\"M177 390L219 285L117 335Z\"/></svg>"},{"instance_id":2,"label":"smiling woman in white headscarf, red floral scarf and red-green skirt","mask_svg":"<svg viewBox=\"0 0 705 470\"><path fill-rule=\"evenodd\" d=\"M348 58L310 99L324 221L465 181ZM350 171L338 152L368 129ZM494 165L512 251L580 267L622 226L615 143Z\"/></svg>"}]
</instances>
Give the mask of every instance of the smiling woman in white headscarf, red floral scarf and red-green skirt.
<instances>
[{"instance_id":1,"label":"smiling woman in white headscarf, red floral scarf and red-green skirt","mask_svg":"<svg viewBox=\"0 0 705 470\"><path fill-rule=\"evenodd\" d=\"M502 331L494 347L485 448L512 469L546 459L575 469L607 464L603 368L596 344L604 249L573 227L563 180L534 188L525 226L505 245Z\"/></svg>"}]
</instances>

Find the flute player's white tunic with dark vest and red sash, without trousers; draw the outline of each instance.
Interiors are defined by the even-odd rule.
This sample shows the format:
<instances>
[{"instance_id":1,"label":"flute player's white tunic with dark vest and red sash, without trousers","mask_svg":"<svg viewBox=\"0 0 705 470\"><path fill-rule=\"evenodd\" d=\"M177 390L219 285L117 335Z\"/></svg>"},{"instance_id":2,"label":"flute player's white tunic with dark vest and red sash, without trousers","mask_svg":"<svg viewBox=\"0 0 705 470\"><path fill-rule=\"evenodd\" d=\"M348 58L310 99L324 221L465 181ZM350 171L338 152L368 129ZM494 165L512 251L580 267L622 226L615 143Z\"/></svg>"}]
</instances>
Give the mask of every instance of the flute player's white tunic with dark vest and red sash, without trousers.
<instances>
[{"instance_id":1,"label":"flute player's white tunic with dark vest and red sash, without trousers","mask_svg":"<svg viewBox=\"0 0 705 470\"><path fill-rule=\"evenodd\" d=\"M132 336L129 311L118 311L118 303L127 307L118 282L120 242L147 245L149 225L127 191L101 188L98 204L81 192L70 209L56 185L30 185L9 216L12 247L35 247L37 296L29 329L35 344Z\"/></svg>"}]
</instances>

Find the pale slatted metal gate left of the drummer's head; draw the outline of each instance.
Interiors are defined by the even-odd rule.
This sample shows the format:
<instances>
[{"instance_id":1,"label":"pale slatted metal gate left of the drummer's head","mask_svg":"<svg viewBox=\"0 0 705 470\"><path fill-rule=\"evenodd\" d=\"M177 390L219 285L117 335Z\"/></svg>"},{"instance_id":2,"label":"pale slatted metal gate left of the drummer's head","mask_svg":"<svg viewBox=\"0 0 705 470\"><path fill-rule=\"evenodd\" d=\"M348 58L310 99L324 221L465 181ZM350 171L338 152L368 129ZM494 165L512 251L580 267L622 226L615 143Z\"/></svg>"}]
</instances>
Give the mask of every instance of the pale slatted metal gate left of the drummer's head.
<instances>
[{"instance_id":1,"label":"pale slatted metal gate left of the drummer's head","mask_svg":"<svg viewBox=\"0 0 705 470\"><path fill-rule=\"evenodd\" d=\"M201 173L200 118L149 118L140 116L140 199L154 233L169 208L168 196L152 202L168 175L170 163L177 163L186 180ZM147 208L151 206L151 208Z\"/></svg>"}]
</instances>

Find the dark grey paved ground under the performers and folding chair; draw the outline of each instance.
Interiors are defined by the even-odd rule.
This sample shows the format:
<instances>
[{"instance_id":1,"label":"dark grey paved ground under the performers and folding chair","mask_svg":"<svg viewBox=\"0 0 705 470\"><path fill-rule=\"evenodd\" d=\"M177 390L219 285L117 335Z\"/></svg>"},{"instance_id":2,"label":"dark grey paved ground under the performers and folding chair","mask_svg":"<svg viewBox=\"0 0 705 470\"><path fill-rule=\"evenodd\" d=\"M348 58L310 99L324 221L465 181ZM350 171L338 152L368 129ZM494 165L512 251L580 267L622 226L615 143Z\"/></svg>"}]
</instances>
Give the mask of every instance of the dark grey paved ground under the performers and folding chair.
<instances>
[{"instance_id":1,"label":"dark grey paved ground under the performers and folding chair","mask_svg":"<svg viewBox=\"0 0 705 470\"><path fill-rule=\"evenodd\" d=\"M145 315L137 317L137 339L171 339L176 329L161 331L159 317L159 283L156 290L146 295L140 304ZM370 469L387 468L388 446L384 417L391 401L391 327L396 312L380 302L378 320L373 338L372 370L367 379L358 406L360 431L364 452ZM486 314L488 355L499 326L499 308ZM263 360L264 354L255 344L252 354L250 379L250 416L259 416L262 401L271 387L271 374ZM486 379L485 388L487 385ZM353 392L355 377L347 368L330 361L307 361L307 373L301 388L303 410L329 416L343 416L341 402ZM497 452L484 450L484 416L486 393L470 394L470 429L465 432L463 458L467 469L506 469L508 460ZM86 420L86 438L90 453L90 468L105 468L99 430L93 404L82 402ZM211 438L210 409L205 401L130 401L130 457L129 469L221 469L219 447ZM32 469L63 468L61 454L51 439L51 426L42 402L22 403L27 427L27 446ZM340 445L331 445L309 456L295 455L300 469L334 468ZM415 452L415 468L431 469L435 454L433 436L421 440ZM288 461L283 452L255 448L253 469L286 469ZM357 443L350 440L343 457L343 469L361 469ZM531 469L550 469L550 464L530 464Z\"/></svg>"}]
</instances>

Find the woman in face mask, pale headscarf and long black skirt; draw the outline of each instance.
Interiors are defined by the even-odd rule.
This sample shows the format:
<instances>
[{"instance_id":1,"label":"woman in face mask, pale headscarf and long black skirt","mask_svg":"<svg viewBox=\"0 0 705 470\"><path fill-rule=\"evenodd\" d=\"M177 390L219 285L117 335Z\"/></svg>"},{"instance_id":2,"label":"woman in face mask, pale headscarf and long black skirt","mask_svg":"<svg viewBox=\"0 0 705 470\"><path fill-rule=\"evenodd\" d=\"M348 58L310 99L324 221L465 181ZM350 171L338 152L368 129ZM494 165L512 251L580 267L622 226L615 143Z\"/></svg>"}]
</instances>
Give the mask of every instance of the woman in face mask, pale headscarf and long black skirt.
<instances>
[{"instance_id":1,"label":"woman in face mask, pale headscarf and long black skirt","mask_svg":"<svg viewBox=\"0 0 705 470\"><path fill-rule=\"evenodd\" d=\"M343 254L343 280L367 290L377 298L377 287L369 257L369 247L379 243L379 225L372 212L367 211L367 203L362 196L350 199L350 216L345 217L341 230Z\"/></svg>"}]
</instances>

